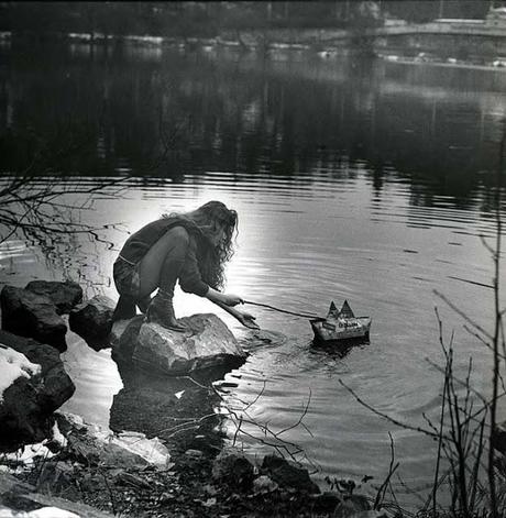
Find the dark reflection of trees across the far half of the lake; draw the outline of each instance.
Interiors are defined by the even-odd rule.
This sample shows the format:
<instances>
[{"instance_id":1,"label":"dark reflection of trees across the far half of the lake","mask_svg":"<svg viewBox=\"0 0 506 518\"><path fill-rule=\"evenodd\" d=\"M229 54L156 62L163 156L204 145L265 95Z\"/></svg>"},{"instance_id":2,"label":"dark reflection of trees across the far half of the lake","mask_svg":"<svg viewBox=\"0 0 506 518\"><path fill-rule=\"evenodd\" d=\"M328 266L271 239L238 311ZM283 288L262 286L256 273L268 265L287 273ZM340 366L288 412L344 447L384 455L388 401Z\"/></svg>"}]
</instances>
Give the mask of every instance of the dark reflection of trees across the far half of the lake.
<instances>
[{"instance_id":1,"label":"dark reflection of trees across the far half of the lake","mask_svg":"<svg viewBox=\"0 0 506 518\"><path fill-rule=\"evenodd\" d=\"M459 206L488 185L504 75L208 54L145 59L123 48L111 58L54 47L26 60L13 48L0 76L2 169L22 170L37 139L73 120L91 144L58 164L66 175L177 180L219 170L310 183L361 165L377 192L395 176L416 203L448 196Z\"/></svg>"}]
</instances>

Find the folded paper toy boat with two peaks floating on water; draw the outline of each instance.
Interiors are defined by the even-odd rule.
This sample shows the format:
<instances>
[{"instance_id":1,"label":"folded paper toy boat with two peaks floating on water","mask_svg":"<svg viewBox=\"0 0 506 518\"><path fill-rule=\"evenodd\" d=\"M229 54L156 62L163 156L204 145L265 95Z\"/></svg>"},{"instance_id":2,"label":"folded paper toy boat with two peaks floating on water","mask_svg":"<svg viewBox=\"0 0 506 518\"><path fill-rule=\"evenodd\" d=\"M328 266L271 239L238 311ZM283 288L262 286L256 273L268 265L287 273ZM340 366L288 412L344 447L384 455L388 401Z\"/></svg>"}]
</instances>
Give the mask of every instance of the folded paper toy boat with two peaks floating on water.
<instances>
[{"instance_id":1,"label":"folded paper toy boat with two peaks floating on water","mask_svg":"<svg viewBox=\"0 0 506 518\"><path fill-rule=\"evenodd\" d=\"M371 322L371 317L355 317L348 300L344 300L340 311L333 301L330 302L329 313L326 318L310 320L315 340L320 343L367 339Z\"/></svg>"}]
</instances>

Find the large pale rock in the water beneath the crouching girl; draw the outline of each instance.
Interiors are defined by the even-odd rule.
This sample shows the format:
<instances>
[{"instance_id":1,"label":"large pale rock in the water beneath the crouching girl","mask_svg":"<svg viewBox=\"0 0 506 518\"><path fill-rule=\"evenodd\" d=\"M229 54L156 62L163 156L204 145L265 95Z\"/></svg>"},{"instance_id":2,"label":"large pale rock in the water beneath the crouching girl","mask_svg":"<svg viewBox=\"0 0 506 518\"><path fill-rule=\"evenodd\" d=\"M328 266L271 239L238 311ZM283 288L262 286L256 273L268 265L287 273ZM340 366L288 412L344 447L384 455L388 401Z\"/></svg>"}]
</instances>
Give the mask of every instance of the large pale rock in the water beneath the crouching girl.
<instances>
[{"instance_id":1,"label":"large pale rock in the water beneath the crouching girl","mask_svg":"<svg viewBox=\"0 0 506 518\"><path fill-rule=\"evenodd\" d=\"M187 374L223 363L241 364L245 353L229 328L216 315L180 319L188 331L176 332L156 323L143 323L132 361L144 370Z\"/></svg>"}]
</instances>

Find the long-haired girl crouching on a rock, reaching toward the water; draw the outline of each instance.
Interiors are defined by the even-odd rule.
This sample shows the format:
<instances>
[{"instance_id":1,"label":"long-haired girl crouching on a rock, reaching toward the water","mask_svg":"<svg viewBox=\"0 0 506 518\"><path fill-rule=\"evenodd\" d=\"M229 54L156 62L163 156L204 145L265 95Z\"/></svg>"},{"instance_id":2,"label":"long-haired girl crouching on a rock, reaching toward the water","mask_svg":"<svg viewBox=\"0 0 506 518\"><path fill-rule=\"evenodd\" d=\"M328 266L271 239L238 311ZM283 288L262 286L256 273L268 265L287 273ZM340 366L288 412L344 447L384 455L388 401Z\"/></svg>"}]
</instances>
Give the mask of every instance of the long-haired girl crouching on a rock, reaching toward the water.
<instances>
[{"instance_id":1,"label":"long-haired girl crouching on a rock, reaching toward the water","mask_svg":"<svg viewBox=\"0 0 506 518\"><path fill-rule=\"evenodd\" d=\"M223 267L233 254L238 213L221 201L209 201L187 213L164 214L132 234L114 262L120 299L112 320L135 316L135 305L148 322L185 331L174 315L176 282L186 293L206 297L243 326L258 329L255 317L233 308L243 300L223 294ZM151 294L158 288L152 299Z\"/></svg>"}]
</instances>

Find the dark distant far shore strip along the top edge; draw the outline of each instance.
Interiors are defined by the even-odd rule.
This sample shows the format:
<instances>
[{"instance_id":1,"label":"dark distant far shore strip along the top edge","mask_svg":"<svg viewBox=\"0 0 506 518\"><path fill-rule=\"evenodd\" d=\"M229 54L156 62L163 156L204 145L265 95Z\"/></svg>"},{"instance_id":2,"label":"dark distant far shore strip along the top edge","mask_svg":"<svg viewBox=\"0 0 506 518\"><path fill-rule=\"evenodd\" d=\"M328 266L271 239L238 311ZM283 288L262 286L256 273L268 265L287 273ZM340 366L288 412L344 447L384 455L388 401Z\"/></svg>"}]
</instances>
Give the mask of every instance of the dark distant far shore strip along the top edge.
<instances>
[{"instance_id":1,"label":"dark distant far shore strip along the top edge","mask_svg":"<svg viewBox=\"0 0 506 518\"><path fill-rule=\"evenodd\" d=\"M0 30L215 36L234 29L371 26L385 18L409 22L484 18L493 4L490 0L0 2Z\"/></svg>"}]
</instances>

